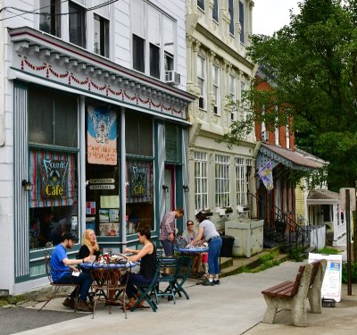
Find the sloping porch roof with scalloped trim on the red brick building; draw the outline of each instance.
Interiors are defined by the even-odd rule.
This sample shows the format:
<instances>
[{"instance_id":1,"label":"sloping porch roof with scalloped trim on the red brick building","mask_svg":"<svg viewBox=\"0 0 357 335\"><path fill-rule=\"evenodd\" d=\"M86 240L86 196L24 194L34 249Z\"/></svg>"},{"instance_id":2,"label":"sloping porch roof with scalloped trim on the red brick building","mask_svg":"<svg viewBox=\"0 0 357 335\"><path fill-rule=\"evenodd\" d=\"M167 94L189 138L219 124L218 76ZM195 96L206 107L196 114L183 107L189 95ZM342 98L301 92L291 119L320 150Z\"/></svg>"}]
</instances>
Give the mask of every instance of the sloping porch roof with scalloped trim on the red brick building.
<instances>
[{"instance_id":1,"label":"sloping porch roof with scalloped trim on the red brick building","mask_svg":"<svg viewBox=\"0 0 357 335\"><path fill-rule=\"evenodd\" d=\"M262 143L258 153L258 161L262 161L263 164L269 160L273 161L273 168L277 166L278 163L282 163L286 167L294 170L311 170L320 167L319 164L312 162L310 159L303 157L303 155L295 151Z\"/></svg>"}]
</instances>

